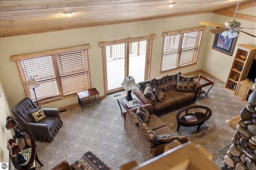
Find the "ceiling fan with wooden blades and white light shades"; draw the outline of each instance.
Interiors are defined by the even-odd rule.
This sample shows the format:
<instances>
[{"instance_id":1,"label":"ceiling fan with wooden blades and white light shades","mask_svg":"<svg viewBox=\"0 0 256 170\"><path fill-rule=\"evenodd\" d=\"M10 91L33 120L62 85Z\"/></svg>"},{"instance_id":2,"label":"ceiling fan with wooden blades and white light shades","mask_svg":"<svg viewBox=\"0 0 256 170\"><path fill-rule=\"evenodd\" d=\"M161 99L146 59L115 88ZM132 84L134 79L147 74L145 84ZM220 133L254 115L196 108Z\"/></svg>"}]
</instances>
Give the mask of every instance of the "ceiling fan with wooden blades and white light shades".
<instances>
[{"instance_id":1,"label":"ceiling fan with wooden blades and white light shades","mask_svg":"<svg viewBox=\"0 0 256 170\"><path fill-rule=\"evenodd\" d=\"M238 36L238 32L237 31L241 31L243 33L246 33L247 35L250 35L252 37L256 37L255 35L252 35L250 33L247 33L247 32L244 32L240 29L242 29L243 27L240 27L241 23L236 21L235 18L236 18L236 13L237 13L237 10L238 10L238 7L239 7L239 4L240 4L240 0L238 0L238 4L236 6L236 12L235 12L235 15L234 15L234 19L233 20L229 20L229 21L226 21L225 22L225 25L223 24L219 24L219 23L211 23L211 22L205 22L205 21L202 21L200 22L201 25L210 25L210 26L216 26L218 28L216 29L211 29L209 30L210 32L216 34L216 33L220 33L222 32L222 35L223 36L227 36L229 38L234 38L234 37L237 37ZM239 29L238 29L239 28ZM247 29L256 29L256 28L247 28ZM236 31L237 30L237 31Z\"/></svg>"}]
</instances>

